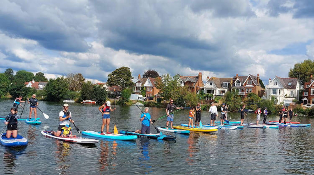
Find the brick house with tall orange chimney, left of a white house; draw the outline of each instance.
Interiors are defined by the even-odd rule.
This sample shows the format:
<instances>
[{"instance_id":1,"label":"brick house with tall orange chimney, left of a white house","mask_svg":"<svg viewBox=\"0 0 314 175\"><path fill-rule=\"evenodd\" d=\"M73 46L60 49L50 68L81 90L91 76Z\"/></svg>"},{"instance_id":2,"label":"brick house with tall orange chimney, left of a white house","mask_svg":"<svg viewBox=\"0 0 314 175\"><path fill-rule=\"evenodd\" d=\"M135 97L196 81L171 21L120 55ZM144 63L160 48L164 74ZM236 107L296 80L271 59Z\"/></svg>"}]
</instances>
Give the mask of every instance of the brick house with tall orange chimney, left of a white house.
<instances>
[{"instance_id":1,"label":"brick house with tall orange chimney, left of a white house","mask_svg":"<svg viewBox=\"0 0 314 175\"><path fill-rule=\"evenodd\" d=\"M180 76L178 81L180 86L188 87L188 90L193 93L198 93L204 88L202 72L199 72L198 76Z\"/></svg>"}]
</instances>

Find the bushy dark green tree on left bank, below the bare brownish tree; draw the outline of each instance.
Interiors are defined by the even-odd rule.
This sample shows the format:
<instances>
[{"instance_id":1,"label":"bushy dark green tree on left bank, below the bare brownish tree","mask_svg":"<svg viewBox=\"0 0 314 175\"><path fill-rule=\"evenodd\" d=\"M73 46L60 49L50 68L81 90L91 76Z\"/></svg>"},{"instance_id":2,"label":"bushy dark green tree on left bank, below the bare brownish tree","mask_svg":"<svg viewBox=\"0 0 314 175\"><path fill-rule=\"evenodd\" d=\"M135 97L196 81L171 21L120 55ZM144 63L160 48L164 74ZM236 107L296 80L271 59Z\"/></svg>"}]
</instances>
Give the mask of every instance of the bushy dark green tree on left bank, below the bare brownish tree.
<instances>
[{"instance_id":1,"label":"bushy dark green tree on left bank, below the bare brownish tree","mask_svg":"<svg viewBox=\"0 0 314 175\"><path fill-rule=\"evenodd\" d=\"M46 91L46 99L48 101L62 101L67 98L69 85L64 77L58 77L55 80L50 79L44 90Z\"/></svg>"}]
</instances>

